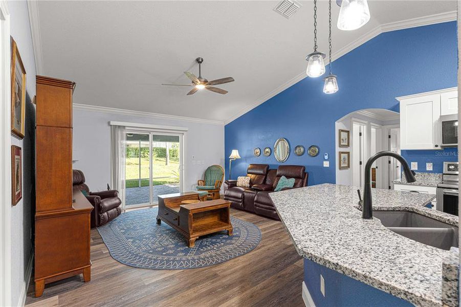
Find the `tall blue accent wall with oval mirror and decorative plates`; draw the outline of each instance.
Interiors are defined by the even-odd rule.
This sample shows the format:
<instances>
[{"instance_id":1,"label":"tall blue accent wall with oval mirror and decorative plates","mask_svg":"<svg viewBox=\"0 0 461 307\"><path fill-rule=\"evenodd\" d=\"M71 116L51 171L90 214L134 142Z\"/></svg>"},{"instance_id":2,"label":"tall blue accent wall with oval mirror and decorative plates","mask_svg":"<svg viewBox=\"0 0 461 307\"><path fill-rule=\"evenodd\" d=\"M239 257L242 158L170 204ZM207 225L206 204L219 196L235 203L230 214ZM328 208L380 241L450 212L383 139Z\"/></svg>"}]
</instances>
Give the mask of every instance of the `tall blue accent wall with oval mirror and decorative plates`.
<instances>
[{"instance_id":1,"label":"tall blue accent wall with oval mirror and decorative plates","mask_svg":"<svg viewBox=\"0 0 461 307\"><path fill-rule=\"evenodd\" d=\"M300 59L300 70L305 64L305 60ZM250 163L266 163L276 168L280 163L273 153L270 157L262 153L254 157L253 149L273 148L278 138L286 138L291 152L284 164L305 165L309 185L335 183L335 122L338 119L363 108L399 112L395 97L457 86L456 69L455 21L382 33L333 62L339 83L336 94L322 92L322 78L304 78L227 124L225 161L232 149L238 149L242 157L232 162L232 178L245 176ZM298 157L293 149L299 144L306 150L310 145L317 145L320 153L315 158L306 153ZM430 161L434 163L434 171L441 172L443 161L457 159L437 154L446 151L406 150L403 156L408 162L419 162L418 171L425 170L425 162ZM325 152L330 167L323 167ZM228 171L226 163L226 178Z\"/></svg>"}]
</instances>

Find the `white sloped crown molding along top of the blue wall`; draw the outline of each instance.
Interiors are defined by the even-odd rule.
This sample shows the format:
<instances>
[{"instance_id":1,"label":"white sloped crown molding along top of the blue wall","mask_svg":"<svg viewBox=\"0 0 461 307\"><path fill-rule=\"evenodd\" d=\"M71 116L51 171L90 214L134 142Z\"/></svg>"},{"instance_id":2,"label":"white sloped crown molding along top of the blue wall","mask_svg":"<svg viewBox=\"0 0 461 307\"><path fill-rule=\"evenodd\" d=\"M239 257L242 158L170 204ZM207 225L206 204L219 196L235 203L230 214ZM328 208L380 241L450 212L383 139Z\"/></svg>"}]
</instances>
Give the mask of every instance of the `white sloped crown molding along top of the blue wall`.
<instances>
[{"instance_id":1,"label":"white sloped crown molding along top of the blue wall","mask_svg":"<svg viewBox=\"0 0 461 307\"><path fill-rule=\"evenodd\" d=\"M368 40L375 38L381 33L421 27L421 26L429 26L429 25L440 24L440 23L446 23L448 21L453 21L453 20L456 20L456 11L451 11L451 12L446 12L446 13L441 13L441 14L434 14L434 15L418 17L418 18L411 18L411 19L396 21L395 23L388 23L388 24L380 25L374 29L371 29L370 31L360 36L356 40L348 43L346 46L339 49L338 51L334 52L332 54L332 62L342 57L346 53L353 51L357 47L363 45L363 43L367 42ZM260 99L255 101L253 104L245 107L244 109L242 109L240 112L238 112L234 116L225 120L224 124L225 125L229 124L230 122L246 114L247 112L251 111L253 108L266 102L267 100L283 92L284 90L288 89L290 86L298 83L299 81L301 81L302 79L306 77L307 76L305 75L305 72L300 73L296 77L288 80L287 82L277 87L275 90L271 91L265 96L262 96Z\"/></svg>"}]
</instances>

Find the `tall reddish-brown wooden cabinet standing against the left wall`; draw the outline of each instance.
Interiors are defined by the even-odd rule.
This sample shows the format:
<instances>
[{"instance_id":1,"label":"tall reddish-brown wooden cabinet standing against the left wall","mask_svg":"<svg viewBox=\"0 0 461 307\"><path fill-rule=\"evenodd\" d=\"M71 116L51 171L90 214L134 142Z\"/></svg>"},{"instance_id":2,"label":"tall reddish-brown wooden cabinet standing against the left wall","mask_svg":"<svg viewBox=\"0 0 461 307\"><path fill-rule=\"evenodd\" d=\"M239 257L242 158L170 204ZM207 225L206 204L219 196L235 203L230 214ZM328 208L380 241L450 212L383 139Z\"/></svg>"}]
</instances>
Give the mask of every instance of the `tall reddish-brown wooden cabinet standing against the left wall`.
<instances>
[{"instance_id":1,"label":"tall reddish-brown wooden cabinet standing against the left wall","mask_svg":"<svg viewBox=\"0 0 461 307\"><path fill-rule=\"evenodd\" d=\"M72 188L75 83L37 76L35 296L45 284L77 274L90 281L90 212Z\"/></svg>"}]
</instances>

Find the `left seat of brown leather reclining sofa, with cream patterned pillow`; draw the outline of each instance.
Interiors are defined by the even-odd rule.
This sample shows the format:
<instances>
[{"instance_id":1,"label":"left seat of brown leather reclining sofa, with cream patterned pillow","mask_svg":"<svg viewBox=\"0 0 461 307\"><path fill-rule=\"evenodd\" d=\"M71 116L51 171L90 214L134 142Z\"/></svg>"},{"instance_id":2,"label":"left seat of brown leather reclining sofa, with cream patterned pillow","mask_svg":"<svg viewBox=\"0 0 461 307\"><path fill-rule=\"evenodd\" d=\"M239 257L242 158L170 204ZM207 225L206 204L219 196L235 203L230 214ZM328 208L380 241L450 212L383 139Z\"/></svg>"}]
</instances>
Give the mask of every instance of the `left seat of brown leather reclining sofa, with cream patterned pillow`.
<instances>
[{"instance_id":1,"label":"left seat of brown leather reclining sofa, with cream patterned pillow","mask_svg":"<svg viewBox=\"0 0 461 307\"><path fill-rule=\"evenodd\" d=\"M236 180L226 180L224 182L224 199L230 201L233 208L253 212L244 206L245 191L250 190L255 184L264 183L268 170L269 165L267 164L250 164L247 169L247 177L250 177L250 187L237 187ZM251 207L253 207L253 204L251 204Z\"/></svg>"}]
</instances>

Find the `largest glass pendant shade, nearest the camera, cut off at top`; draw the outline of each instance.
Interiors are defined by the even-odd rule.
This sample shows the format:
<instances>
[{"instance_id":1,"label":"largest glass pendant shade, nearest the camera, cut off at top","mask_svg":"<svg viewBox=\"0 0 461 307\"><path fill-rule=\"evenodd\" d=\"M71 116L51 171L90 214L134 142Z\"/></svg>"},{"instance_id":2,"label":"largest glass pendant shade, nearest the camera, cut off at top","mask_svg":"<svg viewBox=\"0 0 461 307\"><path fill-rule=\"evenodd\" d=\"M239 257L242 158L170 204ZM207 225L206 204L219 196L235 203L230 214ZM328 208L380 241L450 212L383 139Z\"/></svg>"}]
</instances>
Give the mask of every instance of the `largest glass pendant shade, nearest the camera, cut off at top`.
<instances>
[{"instance_id":1,"label":"largest glass pendant shade, nearest the camera, cut off at top","mask_svg":"<svg viewBox=\"0 0 461 307\"><path fill-rule=\"evenodd\" d=\"M359 29L370 20L370 10L366 0L342 0L339 10L338 29L351 31Z\"/></svg>"}]
</instances>

